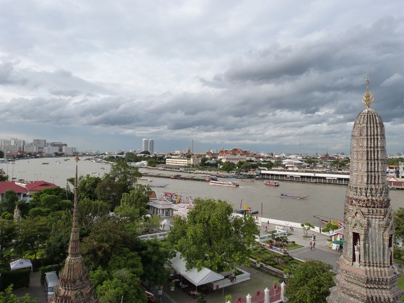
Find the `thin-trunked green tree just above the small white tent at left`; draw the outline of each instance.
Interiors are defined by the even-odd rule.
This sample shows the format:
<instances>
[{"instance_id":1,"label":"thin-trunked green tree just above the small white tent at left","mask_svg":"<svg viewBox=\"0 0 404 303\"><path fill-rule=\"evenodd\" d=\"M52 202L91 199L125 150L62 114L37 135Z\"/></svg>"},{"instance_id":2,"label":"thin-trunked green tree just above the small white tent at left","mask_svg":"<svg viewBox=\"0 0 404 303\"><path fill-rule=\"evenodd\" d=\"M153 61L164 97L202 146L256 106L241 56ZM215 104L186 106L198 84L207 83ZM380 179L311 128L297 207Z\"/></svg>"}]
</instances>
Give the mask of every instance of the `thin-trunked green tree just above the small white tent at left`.
<instances>
[{"instance_id":1,"label":"thin-trunked green tree just above the small white tent at left","mask_svg":"<svg viewBox=\"0 0 404 303\"><path fill-rule=\"evenodd\" d=\"M44 244L49 235L47 220L43 217L35 219L25 219L21 221L21 233L18 237L18 251L24 253L32 251L34 259L39 249L39 245Z\"/></svg>"}]
</instances>

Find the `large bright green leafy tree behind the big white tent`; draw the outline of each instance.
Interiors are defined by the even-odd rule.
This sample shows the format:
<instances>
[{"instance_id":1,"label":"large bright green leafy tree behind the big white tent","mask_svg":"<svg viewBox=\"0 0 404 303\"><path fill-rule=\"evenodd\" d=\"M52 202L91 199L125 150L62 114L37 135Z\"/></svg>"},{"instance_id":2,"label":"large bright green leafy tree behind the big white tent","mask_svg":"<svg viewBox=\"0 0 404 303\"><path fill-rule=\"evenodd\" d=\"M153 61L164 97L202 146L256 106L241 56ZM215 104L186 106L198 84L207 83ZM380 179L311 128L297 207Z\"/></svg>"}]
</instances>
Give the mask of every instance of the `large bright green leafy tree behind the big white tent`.
<instances>
[{"instance_id":1,"label":"large bright green leafy tree behind the big white tent","mask_svg":"<svg viewBox=\"0 0 404 303\"><path fill-rule=\"evenodd\" d=\"M255 218L233 217L232 213L226 201L196 198L187 219L174 218L168 241L181 252L188 269L207 267L221 272L249 262L249 246L259 235Z\"/></svg>"}]
</instances>

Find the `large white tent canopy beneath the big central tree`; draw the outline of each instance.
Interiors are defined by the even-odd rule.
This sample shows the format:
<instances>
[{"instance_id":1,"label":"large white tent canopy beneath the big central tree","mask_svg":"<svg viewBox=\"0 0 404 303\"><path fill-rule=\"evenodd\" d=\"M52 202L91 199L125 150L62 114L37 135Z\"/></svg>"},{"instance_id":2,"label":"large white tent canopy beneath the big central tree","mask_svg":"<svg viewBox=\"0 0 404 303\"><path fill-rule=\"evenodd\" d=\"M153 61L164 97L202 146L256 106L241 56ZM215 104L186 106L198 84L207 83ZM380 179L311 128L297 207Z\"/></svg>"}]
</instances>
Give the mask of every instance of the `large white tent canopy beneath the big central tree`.
<instances>
[{"instance_id":1,"label":"large white tent canopy beneath the big central tree","mask_svg":"<svg viewBox=\"0 0 404 303\"><path fill-rule=\"evenodd\" d=\"M181 254L177 252L177 256L171 260L171 267L179 274L184 276L189 282L195 286L204 285L210 282L215 282L224 277L209 268L203 267L200 272L196 268L186 270L185 261L180 258Z\"/></svg>"}]
</instances>

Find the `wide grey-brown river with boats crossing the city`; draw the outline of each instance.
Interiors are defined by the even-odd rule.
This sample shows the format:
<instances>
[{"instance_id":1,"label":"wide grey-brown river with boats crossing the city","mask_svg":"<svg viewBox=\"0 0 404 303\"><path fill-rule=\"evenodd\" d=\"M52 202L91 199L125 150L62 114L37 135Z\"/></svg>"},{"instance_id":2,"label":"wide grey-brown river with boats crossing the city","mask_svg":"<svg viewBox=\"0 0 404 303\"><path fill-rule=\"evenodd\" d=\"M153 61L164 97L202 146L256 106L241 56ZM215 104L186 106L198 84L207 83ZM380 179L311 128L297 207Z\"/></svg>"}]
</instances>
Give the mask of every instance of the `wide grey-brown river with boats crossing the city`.
<instances>
[{"instance_id":1,"label":"wide grey-brown river with boats crossing the city","mask_svg":"<svg viewBox=\"0 0 404 303\"><path fill-rule=\"evenodd\" d=\"M64 159L70 159L64 161ZM84 161L80 158L78 163L79 175L91 174L91 172L99 173L99 175L91 174L91 176L102 177L104 173L110 171L110 165ZM49 164L41 164L47 162ZM60 164L59 164L60 162ZM25 180L44 180L53 182L61 187L66 187L67 178L74 177L75 161L74 158L42 158L19 160L14 165L8 165L9 176L12 177L14 166L14 177ZM101 167L105 169L102 170ZM0 163L0 168L7 172L7 164ZM156 172L155 170L145 170ZM170 174L164 171L164 174ZM40 174L40 175L38 175ZM174 174L174 172L173 172ZM185 173L184 175L188 175ZM53 178L57 177L57 178ZM237 181L240 187L223 187L212 186L208 182L185 181L175 179L152 178L153 183L168 183L167 187L153 188L160 195L164 191L181 193L183 196L195 197L211 197L214 199L223 199L231 203L234 208L240 207L241 199L243 206L247 205L254 210L259 210L258 216L272 218L277 220L285 220L291 222L309 222L319 226L319 221L313 215L331 217L341 219L343 217L346 185L331 184L313 184L300 183L292 181L280 181L280 186L265 186L263 180L256 180L254 183L241 182L235 179L223 179L221 181ZM142 182L139 182L142 184ZM146 184L146 183L144 183ZM308 194L306 199L280 198L279 194ZM404 208L404 190L390 191L390 198L393 209L399 207ZM261 215L261 202L263 204L263 214Z\"/></svg>"}]
</instances>

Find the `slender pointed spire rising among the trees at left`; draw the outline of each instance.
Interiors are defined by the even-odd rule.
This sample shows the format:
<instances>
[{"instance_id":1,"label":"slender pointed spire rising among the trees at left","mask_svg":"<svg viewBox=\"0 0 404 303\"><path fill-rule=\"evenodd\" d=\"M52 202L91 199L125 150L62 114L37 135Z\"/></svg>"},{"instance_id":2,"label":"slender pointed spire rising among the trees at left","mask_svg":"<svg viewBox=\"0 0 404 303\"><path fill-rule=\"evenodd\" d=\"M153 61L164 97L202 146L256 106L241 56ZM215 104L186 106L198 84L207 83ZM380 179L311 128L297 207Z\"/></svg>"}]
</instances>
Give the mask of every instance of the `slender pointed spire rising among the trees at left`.
<instances>
[{"instance_id":1,"label":"slender pointed spire rising among the trees at left","mask_svg":"<svg viewBox=\"0 0 404 303\"><path fill-rule=\"evenodd\" d=\"M70 235L69 256L66 258L65 267L59 273L59 285L55 287L53 303L95 303L98 299L94 296L94 288L91 286L89 274L84 268L84 260L80 255L80 240L78 233L77 216L77 162L76 154L76 179L74 181L74 211L73 228Z\"/></svg>"}]
</instances>

